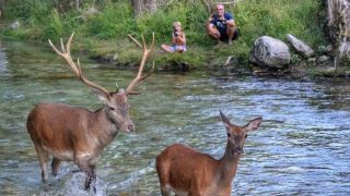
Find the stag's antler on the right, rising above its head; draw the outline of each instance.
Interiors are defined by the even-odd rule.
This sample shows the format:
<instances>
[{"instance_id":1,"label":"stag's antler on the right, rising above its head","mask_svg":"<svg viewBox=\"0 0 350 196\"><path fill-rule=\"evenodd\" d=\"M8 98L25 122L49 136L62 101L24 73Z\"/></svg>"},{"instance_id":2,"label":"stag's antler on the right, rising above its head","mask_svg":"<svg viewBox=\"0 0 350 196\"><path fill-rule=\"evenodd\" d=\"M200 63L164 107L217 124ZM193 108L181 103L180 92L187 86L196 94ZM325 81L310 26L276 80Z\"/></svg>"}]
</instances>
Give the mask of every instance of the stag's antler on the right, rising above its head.
<instances>
[{"instance_id":1,"label":"stag's antler on the right, rising above its head","mask_svg":"<svg viewBox=\"0 0 350 196\"><path fill-rule=\"evenodd\" d=\"M145 41L144 41L144 37L143 35L141 36L142 37L142 42L143 45L141 45L137 39L135 39L131 35L129 35L129 37L133 40L133 42L136 45L138 45L140 48L142 48L143 50L143 56L142 56L142 60L140 62L140 68L139 68L139 73L138 75L133 78L133 81L131 81L131 83L128 85L127 89L126 89L126 94L127 95L135 95L135 94L138 94L138 93L135 93L132 91L132 89L138 86L140 84L141 81L143 81L144 78L147 78L148 76L151 75L153 69L154 69L154 62L153 62L153 66L152 66L152 70L145 74L145 75L142 75L142 71L143 71L143 68L144 68L144 63L147 61L147 59L149 58L149 54L151 51L153 51L154 49L154 32L152 34L152 45L151 47L148 49L147 46L145 46Z\"/></svg>"}]
</instances>

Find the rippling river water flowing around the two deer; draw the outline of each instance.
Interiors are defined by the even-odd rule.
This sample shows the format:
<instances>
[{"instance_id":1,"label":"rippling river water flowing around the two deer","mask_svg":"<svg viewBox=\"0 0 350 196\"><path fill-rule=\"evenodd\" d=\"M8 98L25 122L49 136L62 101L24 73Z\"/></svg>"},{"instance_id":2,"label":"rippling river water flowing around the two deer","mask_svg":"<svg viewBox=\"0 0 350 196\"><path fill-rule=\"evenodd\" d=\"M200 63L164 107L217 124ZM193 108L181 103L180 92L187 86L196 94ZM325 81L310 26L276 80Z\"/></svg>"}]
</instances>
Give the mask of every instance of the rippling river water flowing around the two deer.
<instances>
[{"instance_id":1,"label":"rippling river water flowing around the two deer","mask_svg":"<svg viewBox=\"0 0 350 196\"><path fill-rule=\"evenodd\" d=\"M114 89L135 72L81 60L88 78ZM220 158L226 134L219 109L236 124L264 121L246 140L233 195L350 195L349 81L287 81L224 72L154 73L129 98L136 132L119 133L97 164L97 195L160 195L154 159L173 143ZM38 102L95 110L101 101L48 48L0 45L0 195L93 195L65 163L40 180L26 132Z\"/></svg>"}]
</instances>

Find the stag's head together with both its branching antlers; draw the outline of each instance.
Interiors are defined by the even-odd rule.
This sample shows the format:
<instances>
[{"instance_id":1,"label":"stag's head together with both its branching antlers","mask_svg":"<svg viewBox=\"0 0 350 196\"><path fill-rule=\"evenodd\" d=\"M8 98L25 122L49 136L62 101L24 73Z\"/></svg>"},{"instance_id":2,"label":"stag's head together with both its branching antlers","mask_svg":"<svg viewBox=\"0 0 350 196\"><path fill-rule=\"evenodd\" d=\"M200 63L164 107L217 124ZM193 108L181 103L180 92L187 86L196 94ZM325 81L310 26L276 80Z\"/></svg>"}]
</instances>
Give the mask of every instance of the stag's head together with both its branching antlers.
<instances>
[{"instance_id":1,"label":"stag's head together with both its branching antlers","mask_svg":"<svg viewBox=\"0 0 350 196\"><path fill-rule=\"evenodd\" d=\"M147 48L143 36L142 36L143 45L141 45L132 36L130 36L130 38L143 49L142 60L140 62L139 72L137 76L133 78L133 81L130 82L126 90L124 88L120 88L116 91L108 91L102 86L90 82L83 75L79 59L77 60L77 64L75 64L70 54L70 48L71 48L71 41L73 39L73 35L74 33L70 36L66 47L63 46L63 42L61 39L61 51L58 50L51 44L50 40L49 40L49 44L52 47L52 49L56 51L56 53L62 57L67 61L67 63L69 64L73 73L79 77L79 79L82 81L86 86L89 86L97 95L97 97L105 103L104 111L106 113L107 119L112 121L118 128L121 128L125 132L132 132L135 130L135 124L129 117L130 105L128 103L128 96L137 95L138 93L135 93L133 88L137 87L151 73L150 72L145 75L142 75L145 61L150 52L154 48L154 33L153 33L152 45L150 49Z\"/></svg>"}]
</instances>

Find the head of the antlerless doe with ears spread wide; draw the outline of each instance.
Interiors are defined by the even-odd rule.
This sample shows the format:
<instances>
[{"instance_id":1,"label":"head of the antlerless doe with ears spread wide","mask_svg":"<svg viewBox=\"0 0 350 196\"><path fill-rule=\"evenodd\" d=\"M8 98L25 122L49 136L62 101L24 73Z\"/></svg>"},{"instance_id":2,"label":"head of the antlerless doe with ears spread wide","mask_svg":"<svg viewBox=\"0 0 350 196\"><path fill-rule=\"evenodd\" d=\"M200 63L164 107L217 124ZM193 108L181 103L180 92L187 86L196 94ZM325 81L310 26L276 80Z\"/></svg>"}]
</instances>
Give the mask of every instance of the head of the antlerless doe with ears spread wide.
<instances>
[{"instance_id":1,"label":"head of the antlerless doe with ears spread wide","mask_svg":"<svg viewBox=\"0 0 350 196\"><path fill-rule=\"evenodd\" d=\"M257 118L248 122L245 126L238 126L229 121L220 111L221 120L226 127L228 145L230 145L233 155L243 154L243 146L249 131L257 130L260 126L262 118Z\"/></svg>"}]
</instances>

